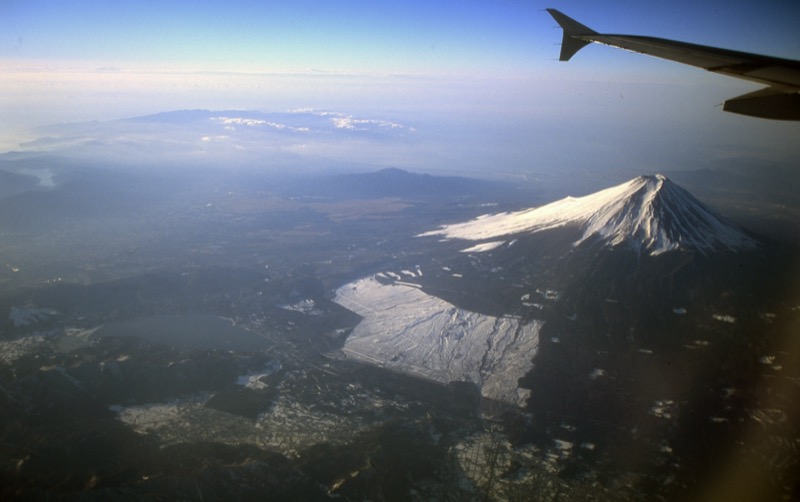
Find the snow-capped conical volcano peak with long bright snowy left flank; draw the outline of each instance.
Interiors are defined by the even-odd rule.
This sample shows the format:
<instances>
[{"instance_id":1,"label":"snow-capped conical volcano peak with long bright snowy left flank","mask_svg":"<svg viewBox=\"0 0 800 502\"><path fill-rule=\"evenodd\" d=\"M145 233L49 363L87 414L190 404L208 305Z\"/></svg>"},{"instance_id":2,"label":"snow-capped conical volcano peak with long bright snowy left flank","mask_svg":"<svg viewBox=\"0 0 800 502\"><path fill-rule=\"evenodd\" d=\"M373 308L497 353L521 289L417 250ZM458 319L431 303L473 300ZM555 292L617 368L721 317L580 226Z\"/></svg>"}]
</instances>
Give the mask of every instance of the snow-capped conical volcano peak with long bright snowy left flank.
<instances>
[{"instance_id":1,"label":"snow-capped conical volcano peak with long bright snowy left flank","mask_svg":"<svg viewBox=\"0 0 800 502\"><path fill-rule=\"evenodd\" d=\"M639 176L584 197L567 197L532 209L484 215L465 223L443 226L420 236L483 241L471 252L495 249L497 239L560 227L582 230L579 245L592 237L608 246L628 244L650 255L677 249L708 252L750 248L755 240L717 216L689 192L665 176Z\"/></svg>"}]
</instances>

